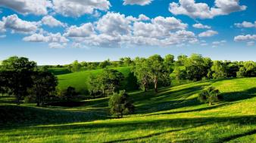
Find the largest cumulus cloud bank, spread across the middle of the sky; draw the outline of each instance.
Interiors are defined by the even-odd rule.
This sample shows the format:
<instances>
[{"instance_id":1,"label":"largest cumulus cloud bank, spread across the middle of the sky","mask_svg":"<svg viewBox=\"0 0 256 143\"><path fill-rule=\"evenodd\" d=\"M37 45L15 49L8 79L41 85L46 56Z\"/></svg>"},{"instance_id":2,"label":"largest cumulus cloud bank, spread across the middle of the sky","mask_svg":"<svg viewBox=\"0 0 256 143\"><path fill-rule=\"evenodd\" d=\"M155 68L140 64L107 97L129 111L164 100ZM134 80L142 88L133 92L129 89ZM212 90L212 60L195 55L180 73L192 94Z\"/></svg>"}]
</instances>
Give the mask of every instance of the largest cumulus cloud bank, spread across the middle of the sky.
<instances>
[{"instance_id":1,"label":"largest cumulus cloud bank, spread across the middle of the sky","mask_svg":"<svg viewBox=\"0 0 256 143\"><path fill-rule=\"evenodd\" d=\"M142 18L143 17L143 18ZM66 36L72 34L73 42L95 47L121 47L129 45L170 46L198 42L193 32L186 31L186 23L174 17L126 17L124 14L108 12L95 24L67 29ZM94 28L94 29L93 29ZM80 35L81 31L85 35ZM80 35L80 36L77 36ZM74 44L76 45L76 44ZM73 46L74 46L73 45Z\"/></svg>"}]
</instances>

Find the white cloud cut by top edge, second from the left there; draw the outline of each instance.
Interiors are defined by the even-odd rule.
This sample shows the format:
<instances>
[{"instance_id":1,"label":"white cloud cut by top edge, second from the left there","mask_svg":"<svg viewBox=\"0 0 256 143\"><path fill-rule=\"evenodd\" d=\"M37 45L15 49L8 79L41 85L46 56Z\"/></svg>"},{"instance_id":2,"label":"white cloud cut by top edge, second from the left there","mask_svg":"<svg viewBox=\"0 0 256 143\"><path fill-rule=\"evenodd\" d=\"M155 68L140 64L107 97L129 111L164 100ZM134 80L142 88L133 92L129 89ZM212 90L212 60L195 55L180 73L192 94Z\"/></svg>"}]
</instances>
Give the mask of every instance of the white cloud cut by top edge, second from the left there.
<instances>
[{"instance_id":1,"label":"white cloud cut by top edge, second from the left there","mask_svg":"<svg viewBox=\"0 0 256 143\"><path fill-rule=\"evenodd\" d=\"M108 0L53 0L55 12L66 17L80 17L93 14L95 10L108 11L111 7Z\"/></svg>"}]
</instances>

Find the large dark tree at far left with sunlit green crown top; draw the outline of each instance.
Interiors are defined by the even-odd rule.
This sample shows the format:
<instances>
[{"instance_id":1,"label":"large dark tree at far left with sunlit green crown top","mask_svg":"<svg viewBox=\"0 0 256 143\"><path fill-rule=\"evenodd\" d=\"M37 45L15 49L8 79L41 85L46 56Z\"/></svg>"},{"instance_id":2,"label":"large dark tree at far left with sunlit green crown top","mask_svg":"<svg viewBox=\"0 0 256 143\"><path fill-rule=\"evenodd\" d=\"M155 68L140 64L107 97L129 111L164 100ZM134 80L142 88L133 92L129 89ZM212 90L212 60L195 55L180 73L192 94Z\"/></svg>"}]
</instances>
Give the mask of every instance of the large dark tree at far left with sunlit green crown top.
<instances>
[{"instance_id":1,"label":"large dark tree at far left with sunlit green crown top","mask_svg":"<svg viewBox=\"0 0 256 143\"><path fill-rule=\"evenodd\" d=\"M8 89L17 99L17 104L33 85L31 75L36 69L36 62L25 57L11 56L2 62L2 70L5 71L5 79L8 80Z\"/></svg>"}]
</instances>

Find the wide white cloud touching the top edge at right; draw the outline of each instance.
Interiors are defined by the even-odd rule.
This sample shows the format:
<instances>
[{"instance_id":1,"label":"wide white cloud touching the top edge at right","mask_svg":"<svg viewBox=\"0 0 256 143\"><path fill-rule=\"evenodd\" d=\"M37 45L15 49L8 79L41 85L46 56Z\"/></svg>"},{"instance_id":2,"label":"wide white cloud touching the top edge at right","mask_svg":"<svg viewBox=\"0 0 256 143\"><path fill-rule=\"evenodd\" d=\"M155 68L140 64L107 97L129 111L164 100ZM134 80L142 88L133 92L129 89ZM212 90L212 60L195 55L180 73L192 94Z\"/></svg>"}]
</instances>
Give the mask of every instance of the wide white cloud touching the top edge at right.
<instances>
[{"instance_id":1,"label":"wide white cloud touching the top edge at right","mask_svg":"<svg viewBox=\"0 0 256 143\"><path fill-rule=\"evenodd\" d=\"M180 0L170 3L169 11L172 14L184 14L192 18L211 19L219 15L227 15L236 11L245 11L245 5L240 6L239 0L215 0L210 8L206 3L196 3L195 0Z\"/></svg>"}]
</instances>

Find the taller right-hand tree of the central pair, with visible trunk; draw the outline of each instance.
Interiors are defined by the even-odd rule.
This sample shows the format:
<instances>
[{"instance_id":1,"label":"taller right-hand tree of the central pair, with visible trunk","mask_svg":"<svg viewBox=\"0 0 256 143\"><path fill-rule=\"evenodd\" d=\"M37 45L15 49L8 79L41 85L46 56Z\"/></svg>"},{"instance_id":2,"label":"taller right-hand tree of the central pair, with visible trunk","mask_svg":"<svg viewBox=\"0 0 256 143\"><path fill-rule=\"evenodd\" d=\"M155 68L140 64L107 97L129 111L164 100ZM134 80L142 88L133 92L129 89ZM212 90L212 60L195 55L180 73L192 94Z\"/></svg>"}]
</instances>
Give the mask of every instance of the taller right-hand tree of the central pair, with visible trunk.
<instances>
[{"instance_id":1,"label":"taller right-hand tree of the central pair, with visible trunk","mask_svg":"<svg viewBox=\"0 0 256 143\"><path fill-rule=\"evenodd\" d=\"M158 93L158 81L161 81L165 74L167 74L167 69L164 66L164 59L160 55L150 56L148 58L148 76L154 83L155 92Z\"/></svg>"}]
</instances>

